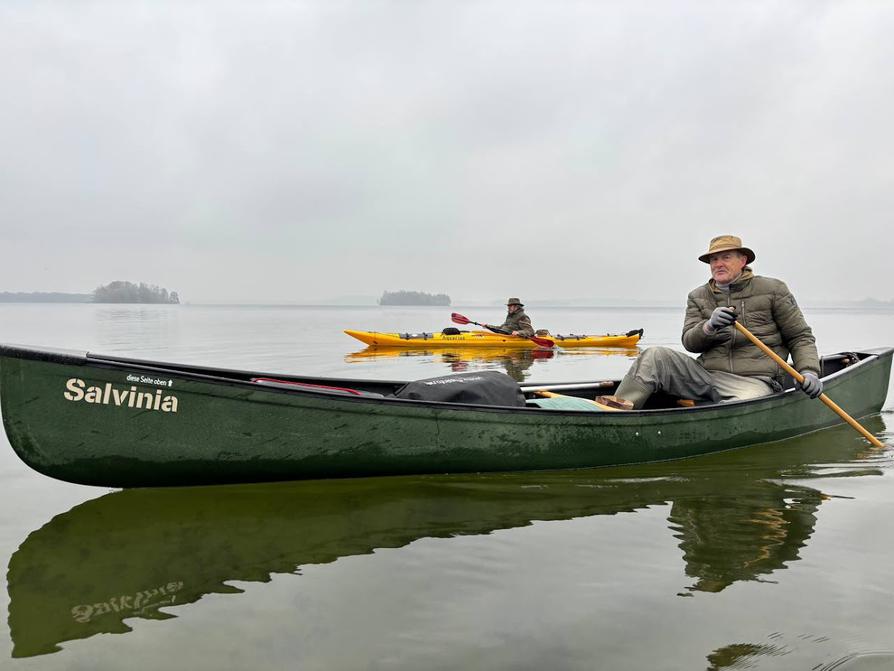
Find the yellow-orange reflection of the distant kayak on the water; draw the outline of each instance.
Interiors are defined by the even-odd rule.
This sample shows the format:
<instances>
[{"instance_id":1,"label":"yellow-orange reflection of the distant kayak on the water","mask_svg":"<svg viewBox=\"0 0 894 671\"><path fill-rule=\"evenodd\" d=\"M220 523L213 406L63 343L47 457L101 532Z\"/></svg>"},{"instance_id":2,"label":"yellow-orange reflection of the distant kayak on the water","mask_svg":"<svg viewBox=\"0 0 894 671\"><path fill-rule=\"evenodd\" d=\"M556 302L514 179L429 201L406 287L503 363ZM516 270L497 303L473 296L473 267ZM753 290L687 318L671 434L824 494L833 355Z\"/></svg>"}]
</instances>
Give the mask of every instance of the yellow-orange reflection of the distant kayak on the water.
<instances>
[{"instance_id":1,"label":"yellow-orange reflection of the distant kayak on the water","mask_svg":"<svg viewBox=\"0 0 894 671\"><path fill-rule=\"evenodd\" d=\"M406 347L367 347L345 356L347 363L360 363L376 359L395 357L430 357L449 367L452 373L463 373L471 366L484 364L485 368L502 368L516 382L524 382L530 377L529 369L536 362L557 356L622 356L635 358L637 347L588 347L583 350L518 349L465 347L451 349L408 349Z\"/></svg>"}]
</instances>

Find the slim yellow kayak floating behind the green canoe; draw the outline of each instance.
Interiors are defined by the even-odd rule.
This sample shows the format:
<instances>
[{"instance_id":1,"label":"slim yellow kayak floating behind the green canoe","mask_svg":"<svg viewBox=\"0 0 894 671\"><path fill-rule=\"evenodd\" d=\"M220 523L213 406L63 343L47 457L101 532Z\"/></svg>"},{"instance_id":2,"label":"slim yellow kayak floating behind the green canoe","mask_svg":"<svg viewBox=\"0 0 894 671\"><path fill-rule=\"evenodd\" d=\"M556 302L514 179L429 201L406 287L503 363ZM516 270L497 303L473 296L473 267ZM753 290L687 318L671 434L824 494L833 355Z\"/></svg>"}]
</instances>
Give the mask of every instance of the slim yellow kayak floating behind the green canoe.
<instances>
[{"instance_id":1,"label":"slim yellow kayak floating behind the green canoe","mask_svg":"<svg viewBox=\"0 0 894 671\"><path fill-rule=\"evenodd\" d=\"M451 329L453 330L453 329ZM373 347L503 347L536 349L531 340L518 336L502 335L490 331L460 331L459 333L380 333L378 331L345 330L352 338ZM642 329L623 335L543 335L556 343L556 347L634 347L643 335Z\"/></svg>"}]
</instances>

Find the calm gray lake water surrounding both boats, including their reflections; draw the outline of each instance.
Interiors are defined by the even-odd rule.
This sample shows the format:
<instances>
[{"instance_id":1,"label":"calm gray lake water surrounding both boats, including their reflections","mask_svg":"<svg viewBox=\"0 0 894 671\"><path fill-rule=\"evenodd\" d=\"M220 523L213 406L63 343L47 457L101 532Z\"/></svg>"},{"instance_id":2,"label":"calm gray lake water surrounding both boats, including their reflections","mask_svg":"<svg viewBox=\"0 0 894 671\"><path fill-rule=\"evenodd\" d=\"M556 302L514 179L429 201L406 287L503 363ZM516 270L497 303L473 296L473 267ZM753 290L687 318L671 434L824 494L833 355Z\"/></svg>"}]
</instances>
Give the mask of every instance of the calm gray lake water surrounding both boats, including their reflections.
<instances>
[{"instance_id":1,"label":"calm gray lake water surrounding both boats, including their reflections","mask_svg":"<svg viewBox=\"0 0 894 671\"><path fill-rule=\"evenodd\" d=\"M637 354L392 356L342 333L450 310L0 304L0 342L408 380L617 378ZM821 353L894 345L894 312L805 312ZM679 347L682 308L529 313ZM889 392L864 422L886 445L892 412ZM891 447L842 426L639 467L115 491L29 470L4 434L0 668L894 668L892 477Z\"/></svg>"}]
</instances>

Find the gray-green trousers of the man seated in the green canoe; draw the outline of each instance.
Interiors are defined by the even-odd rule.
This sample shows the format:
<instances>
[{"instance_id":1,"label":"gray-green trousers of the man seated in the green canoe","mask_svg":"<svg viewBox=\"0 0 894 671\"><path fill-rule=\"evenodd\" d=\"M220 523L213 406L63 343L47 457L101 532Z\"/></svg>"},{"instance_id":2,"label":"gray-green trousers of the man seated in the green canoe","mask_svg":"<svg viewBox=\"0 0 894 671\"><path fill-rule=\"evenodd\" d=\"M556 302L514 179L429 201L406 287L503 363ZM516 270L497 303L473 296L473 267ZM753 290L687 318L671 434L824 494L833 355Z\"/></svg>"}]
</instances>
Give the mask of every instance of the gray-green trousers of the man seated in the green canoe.
<instances>
[{"instance_id":1,"label":"gray-green trousers of the man seated in the green canoe","mask_svg":"<svg viewBox=\"0 0 894 671\"><path fill-rule=\"evenodd\" d=\"M641 408L649 396L663 391L693 401L738 401L776 391L767 379L705 370L690 356L669 347L649 347L621 380L616 396Z\"/></svg>"}]
</instances>

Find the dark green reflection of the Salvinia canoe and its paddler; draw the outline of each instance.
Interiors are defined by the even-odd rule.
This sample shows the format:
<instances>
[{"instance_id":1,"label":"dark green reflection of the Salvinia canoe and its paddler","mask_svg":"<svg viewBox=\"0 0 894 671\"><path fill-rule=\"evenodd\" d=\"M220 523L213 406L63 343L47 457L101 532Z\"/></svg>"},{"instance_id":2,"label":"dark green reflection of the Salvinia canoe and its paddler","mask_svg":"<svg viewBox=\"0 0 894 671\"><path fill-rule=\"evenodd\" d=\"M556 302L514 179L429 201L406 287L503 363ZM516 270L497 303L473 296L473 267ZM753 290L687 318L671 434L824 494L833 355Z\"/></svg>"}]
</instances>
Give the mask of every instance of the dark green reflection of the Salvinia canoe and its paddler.
<instances>
[{"instance_id":1,"label":"dark green reflection of the Salvinia canoe and its paddler","mask_svg":"<svg viewBox=\"0 0 894 671\"><path fill-rule=\"evenodd\" d=\"M884 430L879 417L867 424ZM798 559L827 498L805 480L828 478L832 463L834 477L881 474L865 460L871 448L841 438L848 432L623 468L113 492L56 516L12 555L12 654L55 652L130 631L127 618L171 618L163 608L241 592L227 581L266 582L425 537L666 504L692 578L679 593L717 592Z\"/></svg>"}]
</instances>

